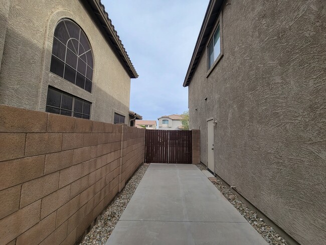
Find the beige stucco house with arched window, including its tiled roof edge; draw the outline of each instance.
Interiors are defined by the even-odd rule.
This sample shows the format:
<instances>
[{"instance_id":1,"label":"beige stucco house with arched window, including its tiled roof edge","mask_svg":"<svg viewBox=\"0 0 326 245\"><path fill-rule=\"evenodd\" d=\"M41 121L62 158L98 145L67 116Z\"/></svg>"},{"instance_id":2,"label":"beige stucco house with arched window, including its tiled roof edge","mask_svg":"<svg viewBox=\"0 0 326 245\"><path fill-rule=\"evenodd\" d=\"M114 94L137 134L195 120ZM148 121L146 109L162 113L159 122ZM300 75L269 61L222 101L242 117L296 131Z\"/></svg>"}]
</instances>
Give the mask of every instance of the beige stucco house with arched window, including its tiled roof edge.
<instances>
[{"instance_id":1,"label":"beige stucco house with arched window, including its tiled roof edge","mask_svg":"<svg viewBox=\"0 0 326 245\"><path fill-rule=\"evenodd\" d=\"M4 0L0 21L1 104L129 125L138 75L100 0Z\"/></svg>"}]
</instances>

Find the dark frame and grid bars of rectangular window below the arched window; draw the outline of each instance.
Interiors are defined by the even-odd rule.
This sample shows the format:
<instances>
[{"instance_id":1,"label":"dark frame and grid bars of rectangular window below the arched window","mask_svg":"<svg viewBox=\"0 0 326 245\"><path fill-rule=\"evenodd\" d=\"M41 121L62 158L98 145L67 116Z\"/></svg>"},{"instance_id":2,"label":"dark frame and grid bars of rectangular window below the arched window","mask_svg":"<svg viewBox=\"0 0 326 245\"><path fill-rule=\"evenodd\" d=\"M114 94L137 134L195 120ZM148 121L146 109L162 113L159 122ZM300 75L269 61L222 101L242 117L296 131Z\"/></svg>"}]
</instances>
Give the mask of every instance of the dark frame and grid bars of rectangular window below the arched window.
<instances>
[{"instance_id":1,"label":"dark frame and grid bars of rectangular window below the arched window","mask_svg":"<svg viewBox=\"0 0 326 245\"><path fill-rule=\"evenodd\" d=\"M54 106L54 105L48 105L48 93L49 93L49 89L52 89L52 90L55 90L57 92L60 92L61 93L61 98L60 98L60 107L57 107L57 106ZM58 114L58 115L66 115L66 116L71 116L71 117L76 117L76 118L83 118L83 119L91 119L91 109L92 109L92 103L85 100L85 99L82 99L80 97L77 97L73 94L70 94L70 93L67 93L65 91L62 91L58 88L55 88L55 87L52 87L52 86L49 86L48 87L48 93L47 93L47 99L46 99L46 105L45 105L45 111L48 112L48 113L53 113L53 114ZM71 110L69 109L66 109L66 108L62 108L62 94L66 94L68 96L71 96L72 97L72 106L71 106ZM77 112L75 111L75 100L76 99L79 99L81 101L83 101L83 105L82 105L82 112ZM86 113L83 113L83 109L84 109L84 102L86 103L89 103L89 114L86 114ZM55 108L55 109L59 109L59 113L55 113L55 112L51 112L51 111L48 111L48 107L50 108ZM66 111L71 111L71 115L67 115L67 114L61 114L61 110L66 110ZM75 116L74 114L75 113L78 113L78 114L81 114L81 117L77 117ZM84 118L83 115L85 116L88 116L88 118Z\"/></svg>"}]
</instances>

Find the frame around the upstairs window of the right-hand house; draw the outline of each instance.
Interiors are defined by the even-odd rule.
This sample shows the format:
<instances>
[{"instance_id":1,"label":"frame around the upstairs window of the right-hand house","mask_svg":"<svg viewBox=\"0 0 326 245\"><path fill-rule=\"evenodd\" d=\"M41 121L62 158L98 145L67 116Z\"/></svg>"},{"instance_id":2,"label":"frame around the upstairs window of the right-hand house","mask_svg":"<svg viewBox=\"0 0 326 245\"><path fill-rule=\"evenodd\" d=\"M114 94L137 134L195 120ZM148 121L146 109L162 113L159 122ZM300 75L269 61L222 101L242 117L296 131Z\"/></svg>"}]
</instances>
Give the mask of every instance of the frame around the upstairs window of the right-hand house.
<instances>
[{"instance_id":1,"label":"frame around the upstairs window of the right-hand house","mask_svg":"<svg viewBox=\"0 0 326 245\"><path fill-rule=\"evenodd\" d=\"M214 25L214 28L212 30L214 30L209 37L209 41L207 42L206 45L206 54L207 54L207 74L206 74L206 78L209 77L209 75L212 73L212 71L215 69L216 65L220 62L220 60L223 57L223 25L222 25L222 12L219 14L219 17L217 18L217 21ZM213 42L213 38L214 38L214 34L216 33L217 29L220 28L220 54L218 55L218 57L214 60L213 64L211 65L211 67L209 67L209 45L211 44L211 42Z\"/></svg>"}]
</instances>

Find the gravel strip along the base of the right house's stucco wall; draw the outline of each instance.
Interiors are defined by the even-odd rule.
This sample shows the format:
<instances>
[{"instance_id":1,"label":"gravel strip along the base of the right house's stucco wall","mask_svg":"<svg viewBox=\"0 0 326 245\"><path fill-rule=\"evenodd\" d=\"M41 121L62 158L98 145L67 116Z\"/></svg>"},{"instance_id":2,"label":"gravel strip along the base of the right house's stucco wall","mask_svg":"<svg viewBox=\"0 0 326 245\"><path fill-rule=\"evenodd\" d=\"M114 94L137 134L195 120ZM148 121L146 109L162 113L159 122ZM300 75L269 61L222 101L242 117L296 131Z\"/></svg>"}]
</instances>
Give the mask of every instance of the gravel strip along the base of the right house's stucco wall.
<instances>
[{"instance_id":1,"label":"gravel strip along the base of the right house's stucco wall","mask_svg":"<svg viewBox=\"0 0 326 245\"><path fill-rule=\"evenodd\" d=\"M200 170L206 170L204 164L196 165ZM216 183L213 183L215 187L226 197L226 199L242 214L243 217L254 227L258 233L268 242L270 245L288 245L288 243L271 227L266 224L262 218L259 218L257 214L243 204L228 187L216 178Z\"/></svg>"}]
</instances>

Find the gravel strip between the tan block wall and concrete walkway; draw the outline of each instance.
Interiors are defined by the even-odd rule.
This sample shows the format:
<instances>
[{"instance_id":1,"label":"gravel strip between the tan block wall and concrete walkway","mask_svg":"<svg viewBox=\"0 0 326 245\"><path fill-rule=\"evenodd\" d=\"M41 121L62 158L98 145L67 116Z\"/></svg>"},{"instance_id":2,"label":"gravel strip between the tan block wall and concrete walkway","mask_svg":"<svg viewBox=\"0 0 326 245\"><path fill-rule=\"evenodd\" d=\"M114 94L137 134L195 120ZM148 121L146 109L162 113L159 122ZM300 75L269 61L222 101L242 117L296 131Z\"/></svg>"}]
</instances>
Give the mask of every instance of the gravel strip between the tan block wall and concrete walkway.
<instances>
[{"instance_id":1,"label":"gravel strip between the tan block wall and concrete walkway","mask_svg":"<svg viewBox=\"0 0 326 245\"><path fill-rule=\"evenodd\" d=\"M79 245L105 244L148 166L149 164L143 164L137 169L123 188L122 192L118 195L115 201L107 207L101 218L87 233L84 240Z\"/></svg>"}]
</instances>

